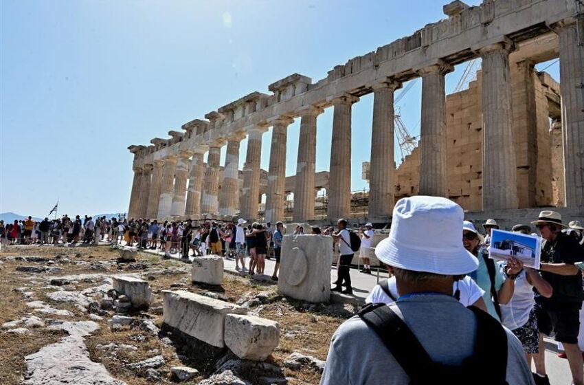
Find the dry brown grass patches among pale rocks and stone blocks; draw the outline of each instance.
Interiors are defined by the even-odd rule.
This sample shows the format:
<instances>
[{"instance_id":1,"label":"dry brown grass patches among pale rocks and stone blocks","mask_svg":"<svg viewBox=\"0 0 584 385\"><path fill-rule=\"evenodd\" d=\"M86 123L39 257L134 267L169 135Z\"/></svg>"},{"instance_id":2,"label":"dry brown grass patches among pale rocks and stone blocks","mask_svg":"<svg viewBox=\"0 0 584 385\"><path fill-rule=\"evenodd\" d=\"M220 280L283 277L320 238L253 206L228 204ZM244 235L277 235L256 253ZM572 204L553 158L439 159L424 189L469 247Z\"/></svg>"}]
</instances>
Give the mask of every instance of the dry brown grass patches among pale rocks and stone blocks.
<instances>
[{"instance_id":1,"label":"dry brown grass patches among pale rocks and stone blocks","mask_svg":"<svg viewBox=\"0 0 584 385\"><path fill-rule=\"evenodd\" d=\"M306 307L302 303L282 300L277 296L277 287L273 284L252 281L249 278L232 276L227 274L225 282L221 287L207 285L192 285L190 283L190 265L181 261L162 260L152 254L138 254L137 263L133 266L120 265L115 263L117 251L109 248L38 248L31 246L27 248L3 249L0 257L5 256L41 256L47 259L54 259L54 266L63 269L58 274L29 274L15 272L16 267L23 265L44 265L45 263L32 263L24 261L5 261L0 265L0 274L3 276L0 281L0 324L9 320L15 320L30 313L31 309L25 305L25 300L21 294L14 292L16 287L33 287L34 300L42 300L57 309L67 309L76 316L75 320L87 320L87 314L82 313L74 305L68 303L55 303L45 296L51 288L45 288L43 281L49 276L65 276L73 274L142 274L142 277L149 281L155 294L154 305L161 305L160 292L165 289L182 289L189 292L201 294L203 292L215 292L222 299L236 303L240 298L255 295L260 292L268 293L270 303L258 308L251 308L251 311L258 311L264 318L276 320L280 323L281 336L280 346L274 351L269 362L279 366L284 375L289 377L290 384L318 384L320 374L315 369L303 367L299 371L284 368L283 362L290 353L298 351L306 355L313 355L320 360L326 360L328 353L328 342L339 325L353 314L353 309L346 310L336 308L331 311L331 307ZM60 261L56 256L60 255ZM69 263L63 263L63 259L69 259ZM74 264L76 262L86 262L85 264ZM104 270L91 270L90 265L104 263ZM136 269L131 269L136 267ZM170 270L170 274L169 271ZM164 274L162 274L164 273ZM32 278L32 279L31 279ZM36 284L34 281L38 281ZM80 281L67 287L67 289L81 290L87 287L101 285L101 282ZM171 287L172 285L172 287ZM337 305L338 306L338 305ZM330 314L333 314L331 316ZM337 316L335 316L337 314ZM39 315L43 318L45 315ZM150 318L155 325L161 327L162 317L155 314L132 314L135 318ZM50 316L45 316L45 318ZM65 319L58 317L58 319ZM170 380L170 366L192 366L199 369L201 376L192 380L192 384L209 375L212 367L212 360L203 357L201 351L189 350L176 339L170 336L174 345L167 347L161 342L161 338L167 336L163 331L160 336L151 336L148 332L137 327L124 327L121 331L111 331L107 324L108 316L100 321L100 329L86 338L87 348L90 358L93 361L101 362L115 378L123 380L128 385L146 385L148 382L142 373L128 369L126 364L139 362L152 358L155 355L163 355L166 364L157 369L167 380ZM46 320L46 319L45 319ZM32 333L19 336L9 335L2 332L0 338L0 378L4 385L19 384L24 376L25 362L24 356L38 351L41 347L56 342L64 335L63 331L48 331L47 329L31 329ZM143 342L132 340L136 336L144 336ZM128 344L137 347L137 351L117 349L117 351L104 350L98 345L106 345L111 342L115 344ZM179 349L177 351L177 349ZM181 359L179 360L179 355ZM254 380L261 373L244 373L247 380L254 383ZM189 383L187 383L189 384Z\"/></svg>"}]
</instances>

